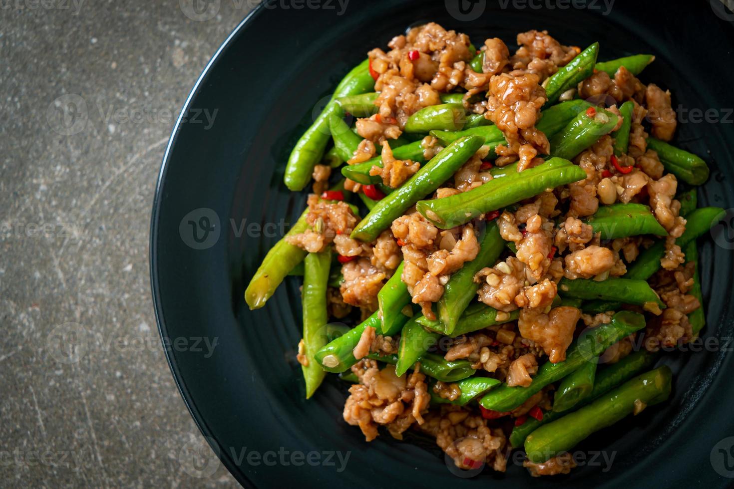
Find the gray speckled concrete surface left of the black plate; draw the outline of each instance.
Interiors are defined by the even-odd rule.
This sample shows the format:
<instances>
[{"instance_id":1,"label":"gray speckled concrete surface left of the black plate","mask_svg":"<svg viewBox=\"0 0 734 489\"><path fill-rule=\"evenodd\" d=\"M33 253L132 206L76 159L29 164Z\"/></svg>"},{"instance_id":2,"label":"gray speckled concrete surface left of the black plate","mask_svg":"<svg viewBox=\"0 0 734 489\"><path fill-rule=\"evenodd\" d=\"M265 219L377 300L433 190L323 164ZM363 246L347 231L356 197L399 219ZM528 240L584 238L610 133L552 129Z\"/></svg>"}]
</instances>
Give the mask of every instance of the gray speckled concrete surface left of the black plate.
<instances>
[{"instance_id":1,"label":"gray speckled concrete surface left of the black plate","mask_svg":"<svg viewBox=\"0 0 734 489\"><path fill-rule=\"evenodd\" d=\"M173 121L252 7L192 1L0 2L1 487L236 486L199 470L148 279Z\"/></svg>"}]
</instances>

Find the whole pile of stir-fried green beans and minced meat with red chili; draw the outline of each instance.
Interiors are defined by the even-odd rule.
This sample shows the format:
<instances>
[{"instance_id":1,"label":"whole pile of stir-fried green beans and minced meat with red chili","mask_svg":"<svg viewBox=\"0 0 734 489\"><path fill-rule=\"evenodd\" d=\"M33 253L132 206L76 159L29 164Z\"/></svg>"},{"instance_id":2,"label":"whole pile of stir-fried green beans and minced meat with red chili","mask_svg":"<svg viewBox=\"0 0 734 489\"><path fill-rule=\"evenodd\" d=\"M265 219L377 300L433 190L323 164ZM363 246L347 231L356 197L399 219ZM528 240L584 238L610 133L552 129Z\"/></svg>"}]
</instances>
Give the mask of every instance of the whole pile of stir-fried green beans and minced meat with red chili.
<instances>
[{"instance_id":1,"label":"whole pile of stir-fried green beans and minced meat with red chili","mask_svg":"<svg viewBox=\"0 0 734 489\"><path fill-rule=\"evenodd\" d=\"M708 166L637 78L653 56L517 45L428 23L369 51L294 147L285 184L313 194L245 298L303 276L306 397L339 373L366 441L413 428L459 468L522 447L565 474L669 397L654 366L704 326L696 240L723 211L697 207Z\"/></svg>"}]
</instances>

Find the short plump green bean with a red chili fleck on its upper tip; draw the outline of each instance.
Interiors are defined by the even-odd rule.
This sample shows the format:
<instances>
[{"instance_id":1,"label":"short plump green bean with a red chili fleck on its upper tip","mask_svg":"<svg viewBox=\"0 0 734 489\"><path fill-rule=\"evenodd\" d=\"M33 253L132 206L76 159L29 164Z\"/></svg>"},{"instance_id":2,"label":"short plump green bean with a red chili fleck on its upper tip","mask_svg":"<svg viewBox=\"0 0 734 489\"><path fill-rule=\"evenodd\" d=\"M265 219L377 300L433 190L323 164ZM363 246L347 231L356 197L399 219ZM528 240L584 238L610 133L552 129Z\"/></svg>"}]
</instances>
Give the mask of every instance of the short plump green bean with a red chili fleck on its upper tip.
<instances>
[{"instance_id":1,"label":"short plump green bean with a red chili fleck on its upper tip","mask_svg":"<svg viewBox=\"0 0 734 489\"><path fill-rule=\"evenodd\" d=\"M551 138L551 155L571 160L599 141L617 125L617 115L595 108L594 115L581 111L566 127Z\"/></svg>"}]
</instances>

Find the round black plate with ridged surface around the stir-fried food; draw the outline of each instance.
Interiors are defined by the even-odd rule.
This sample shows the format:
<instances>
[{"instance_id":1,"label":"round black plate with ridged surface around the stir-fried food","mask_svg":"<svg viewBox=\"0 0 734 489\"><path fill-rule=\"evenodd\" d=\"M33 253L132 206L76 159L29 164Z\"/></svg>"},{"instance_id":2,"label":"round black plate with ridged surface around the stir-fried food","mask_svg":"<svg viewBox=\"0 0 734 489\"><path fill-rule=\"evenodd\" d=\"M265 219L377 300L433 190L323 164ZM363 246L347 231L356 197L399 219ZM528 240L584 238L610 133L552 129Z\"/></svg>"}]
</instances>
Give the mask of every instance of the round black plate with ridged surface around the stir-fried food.
<instances>
[{"instance_id":1,"label":"round black plate with ridged surface around the stir-fried food","mask_svg":"<svg viewBox=\"0 0 734 489\"><path fill-rule=\"evenodd\" d=\"M341 419L346 387L334 376L313 400L303 399L294 358L300 337L299 279L289 278L264 309L250 312L242 299L244 284L280 238L280 223L293 222L304 207L306 194L291 194L283 186L283 168L294 140L312 120L313 107L366 51L385 47L406 26L424 21L466 32L474 43L501 37L511 50L517 32L548 29L565 44L599 41L600 59L655 54L642 81L670 89L674 107L716 111L719 122L681 124L677 144L711 164L711 180L700 191L702 204L734 207L734 126L726 109L734 107L734 29L716 0L685 8L666 1L617 2L608 15L603 2L591 0L583 9L517 8L528 4L479 0L466 3L464 10L448 0L352 0L344 15L332 1L321 5L333 4L335 10L283 8L291 3L258 7L217 51L186 102L183 114L191 120L179 121L172 134L153 207L151 276L161 335L218 340L208 358L196 348L168 348L170 367L192 416L239 482L320 488L330 482L341 487L727 485L731 479L720 474L724 462L734 468L734 457L722 458L728 455L714 449L734 435L733 356L724 348L666 355L662 361L675 372L672 399L579 447L614 453L609 471L584 466L570 476L531 479L511 464L506 474L485 470L461 478L434 444L416 435L399 442L382 433L366 444L360 430ZM211 128L197 119L201 109L210 114L217 109ZM214 231L204 239L200 225L215 225ZM194 240L192 226L202 243ZM732 248L725 240L721 246L711 239L702 245L705 338L734 336ZM236 463L233 454L244 447L247 453L350 455L341 472L338 462L296 465L288 457L286 464L255 466L247 460Z\"/></svg>"}]
</instances>

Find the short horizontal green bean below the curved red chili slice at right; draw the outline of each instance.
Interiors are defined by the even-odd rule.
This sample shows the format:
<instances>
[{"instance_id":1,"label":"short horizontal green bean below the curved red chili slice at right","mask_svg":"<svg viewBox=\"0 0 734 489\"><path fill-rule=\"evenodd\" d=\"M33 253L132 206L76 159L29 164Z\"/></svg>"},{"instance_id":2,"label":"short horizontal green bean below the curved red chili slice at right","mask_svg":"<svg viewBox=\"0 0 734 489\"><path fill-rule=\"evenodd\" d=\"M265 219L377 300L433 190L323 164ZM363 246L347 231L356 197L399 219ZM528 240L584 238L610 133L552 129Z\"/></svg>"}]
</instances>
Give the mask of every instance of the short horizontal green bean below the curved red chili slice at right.
<instances>
[{"instance_id":1,"label":"short horizontal green bean below the curved red chili slice at right","mask_svg":"<svg viewBox=\"0 0 734 489\"><path fill-rule=\"evenodd\" d=\"M586 218L586 224L595 233L600 232L603 240L639 235L668 235L650 211L650 207L644 204L602 205L593 216Z\"/></svg>"}]
</instances>

